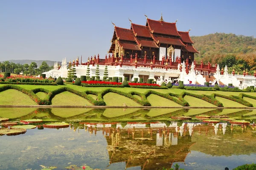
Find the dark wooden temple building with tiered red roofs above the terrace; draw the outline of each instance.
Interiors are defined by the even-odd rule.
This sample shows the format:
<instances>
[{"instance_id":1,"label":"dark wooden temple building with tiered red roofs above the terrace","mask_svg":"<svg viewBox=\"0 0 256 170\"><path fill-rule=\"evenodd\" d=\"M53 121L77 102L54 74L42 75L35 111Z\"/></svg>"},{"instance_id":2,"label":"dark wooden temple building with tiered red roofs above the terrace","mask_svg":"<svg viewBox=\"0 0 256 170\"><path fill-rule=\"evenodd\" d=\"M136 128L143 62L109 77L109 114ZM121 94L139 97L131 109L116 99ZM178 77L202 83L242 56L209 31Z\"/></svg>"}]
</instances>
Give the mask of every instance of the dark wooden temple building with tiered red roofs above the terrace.
<instances>
[{"instance_id":1,"label":"dark wooden temple building with tiered red roofs above the terrace","mask_svg":"<svg viewBox=\"0 0 256 170\"><path fill-rule=\"evenodd\" d=\"M146 16L146 15L145 15ZM130 20L130 19L129 19ZM130 20L131 22L131 20ZM177 31L175 23L167 23L161 16L160 20L151 20L146 16L145 26L131 22L131 28L120 28L114 25L109 53L114 57L164 60L176 62L180 57L181 62L188 59L191 64L194 54L198 51L193 47L189 31Z\"/></svg>"}]
</instances>

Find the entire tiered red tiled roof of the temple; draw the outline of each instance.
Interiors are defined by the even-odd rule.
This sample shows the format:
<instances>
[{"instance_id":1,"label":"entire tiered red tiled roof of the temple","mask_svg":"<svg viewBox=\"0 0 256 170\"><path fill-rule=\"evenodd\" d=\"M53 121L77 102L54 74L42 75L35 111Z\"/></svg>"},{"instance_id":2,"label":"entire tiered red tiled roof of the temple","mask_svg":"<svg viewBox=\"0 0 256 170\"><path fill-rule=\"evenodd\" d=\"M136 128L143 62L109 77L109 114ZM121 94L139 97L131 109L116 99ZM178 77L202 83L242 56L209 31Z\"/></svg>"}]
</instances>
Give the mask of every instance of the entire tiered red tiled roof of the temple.
<instances>
[{"instance_id":1,"label":"entire tiered red tiled roof of the temple","mask_svg":"<svg viewBox=\"0 0 256 170\"><path fill-rule=\"evenodd\" d=\"M131 23L131 29L115 26L110 51L114 50L113 40L118 40L124 49L140 51L141 46L159 48L160 44L168 44L181 46L182 51L198 53L192 46L189 32L177 31L176 22L167 23L163 17L158 21L147 18L146 26Z\"/></svg>"}]
</instances>

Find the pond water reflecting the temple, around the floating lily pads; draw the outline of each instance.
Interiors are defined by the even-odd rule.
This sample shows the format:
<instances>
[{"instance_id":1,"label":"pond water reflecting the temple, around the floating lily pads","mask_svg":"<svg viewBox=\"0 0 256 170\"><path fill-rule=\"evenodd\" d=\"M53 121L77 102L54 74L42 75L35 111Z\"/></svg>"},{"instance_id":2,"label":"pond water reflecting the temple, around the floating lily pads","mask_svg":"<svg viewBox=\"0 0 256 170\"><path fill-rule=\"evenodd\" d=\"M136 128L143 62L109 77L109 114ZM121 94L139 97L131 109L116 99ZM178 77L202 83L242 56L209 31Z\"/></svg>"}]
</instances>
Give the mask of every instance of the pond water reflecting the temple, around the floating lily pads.
<instances>
[{"instance_id":1,"label":"pond water reflecting the temple, around the floating lily pads","mask_svg":"<svg viewBox=\"0 0 256 170\"><path fill-rule=\"evenodd\" d=\"M250 125L204 123L199 114L243 119ZM0 136L3 170L160 170L175 164L185 170L231 170L256 160L256 110L1 108L0 117L18 124L43 120L30 123L37 128L24 134ZM46 128L47 122L67 122L69 127Z\"/></svg>"}]
</instances>

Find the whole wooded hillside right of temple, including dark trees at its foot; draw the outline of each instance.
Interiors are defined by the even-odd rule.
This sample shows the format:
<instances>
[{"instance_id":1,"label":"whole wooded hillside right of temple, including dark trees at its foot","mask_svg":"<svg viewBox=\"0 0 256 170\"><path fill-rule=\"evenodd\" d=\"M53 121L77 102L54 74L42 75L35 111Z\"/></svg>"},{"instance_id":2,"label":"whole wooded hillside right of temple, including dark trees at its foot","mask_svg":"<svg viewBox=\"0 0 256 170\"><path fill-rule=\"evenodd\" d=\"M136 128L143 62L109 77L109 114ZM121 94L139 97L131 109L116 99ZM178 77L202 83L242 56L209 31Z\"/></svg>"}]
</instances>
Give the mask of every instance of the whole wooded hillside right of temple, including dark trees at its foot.
<instances>
[{"instance_id":1,"label":"whole wooded hillside right of temple, including dark trees at its foot","mask_svg":"<svg viewBox=\"0 0 256 170\"><path fill-rule=\"evenodd\" d=\"M195 55L197 62L228 64L237 68L254 70L256 68L256 38L236 34L215 33L192 36L194 47L200 51ZM230 57L233 61L225 59Z\"/></svg>"}]
</instances>

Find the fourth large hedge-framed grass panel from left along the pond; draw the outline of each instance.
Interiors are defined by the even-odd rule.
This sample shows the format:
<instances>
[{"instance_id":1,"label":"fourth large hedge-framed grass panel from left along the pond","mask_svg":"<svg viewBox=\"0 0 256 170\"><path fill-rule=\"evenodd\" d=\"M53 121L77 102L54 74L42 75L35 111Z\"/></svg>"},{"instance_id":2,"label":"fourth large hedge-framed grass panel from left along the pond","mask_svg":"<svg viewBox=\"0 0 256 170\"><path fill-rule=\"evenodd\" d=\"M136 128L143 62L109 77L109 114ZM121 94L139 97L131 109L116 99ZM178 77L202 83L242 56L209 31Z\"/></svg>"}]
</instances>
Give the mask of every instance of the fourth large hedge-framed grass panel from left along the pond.
<instances>
[{"instance_id":1,"label":"fourth large hedge-framed grass panel from left along the pond","mask_svg":"<svg viewBox=\"0 0 256 170\"><path fill-rule=\"evenodd\" d=\"M148 102L150 102L151 106L174 106L180 107L181 105L173 102L172 100L163 98L161 96L157 96L155 94L151 94L147 97Z\"/></svg>"}]
</instances>

